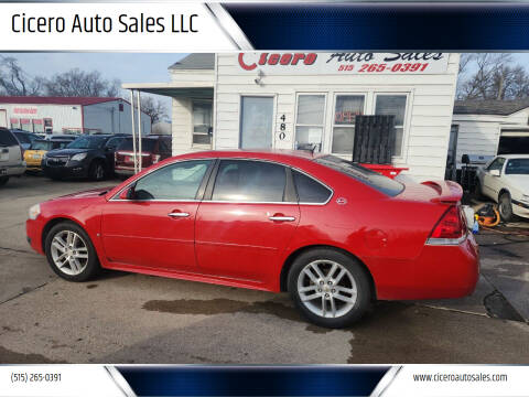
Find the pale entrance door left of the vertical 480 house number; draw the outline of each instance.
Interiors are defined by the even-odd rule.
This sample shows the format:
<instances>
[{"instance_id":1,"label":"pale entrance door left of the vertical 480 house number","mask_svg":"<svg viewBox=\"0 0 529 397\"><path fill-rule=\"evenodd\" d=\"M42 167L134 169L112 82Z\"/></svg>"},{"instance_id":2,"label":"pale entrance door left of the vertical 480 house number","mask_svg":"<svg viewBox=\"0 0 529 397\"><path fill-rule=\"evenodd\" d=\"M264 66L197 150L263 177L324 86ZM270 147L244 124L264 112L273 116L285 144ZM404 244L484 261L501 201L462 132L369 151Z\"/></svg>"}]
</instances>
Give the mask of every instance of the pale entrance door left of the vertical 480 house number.
<instances>
[{"instance_id":1,"label":"pale entrance door left of the vertical 480 house number","mask_svg":"<svg viewBox=\"0 0 529 397\"><path fill-rule=\"evenodd\" d=\"M240 98L241 149L272 148L273 97Z\"/></svg>"}]
</instances>

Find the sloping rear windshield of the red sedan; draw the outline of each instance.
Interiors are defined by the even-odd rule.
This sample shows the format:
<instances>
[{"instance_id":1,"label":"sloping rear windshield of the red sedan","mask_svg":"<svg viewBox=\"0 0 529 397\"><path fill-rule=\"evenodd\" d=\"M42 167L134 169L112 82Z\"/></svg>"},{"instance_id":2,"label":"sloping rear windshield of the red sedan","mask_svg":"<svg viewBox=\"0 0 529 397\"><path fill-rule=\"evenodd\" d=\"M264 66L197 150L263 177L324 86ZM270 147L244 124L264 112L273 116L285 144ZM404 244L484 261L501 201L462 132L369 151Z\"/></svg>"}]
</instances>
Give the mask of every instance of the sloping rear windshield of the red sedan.
<instances>
[{"instance_id":1,"label":"sloping rear windshield of the red sedan","mask_svg":"<svg viewBox=\"0 0 529 397\"><path fill-rule=\"evenodd\" d=\"M354 178L355 180L360 181L391 197L404 190L404 185L400 182L393 181L392 179L384 176L378 172L368 170L352 161L343 160L335 155L324 155L317 158L315 161L322 165L345 173L346 175Z\"/></svg>"}]
</instances>

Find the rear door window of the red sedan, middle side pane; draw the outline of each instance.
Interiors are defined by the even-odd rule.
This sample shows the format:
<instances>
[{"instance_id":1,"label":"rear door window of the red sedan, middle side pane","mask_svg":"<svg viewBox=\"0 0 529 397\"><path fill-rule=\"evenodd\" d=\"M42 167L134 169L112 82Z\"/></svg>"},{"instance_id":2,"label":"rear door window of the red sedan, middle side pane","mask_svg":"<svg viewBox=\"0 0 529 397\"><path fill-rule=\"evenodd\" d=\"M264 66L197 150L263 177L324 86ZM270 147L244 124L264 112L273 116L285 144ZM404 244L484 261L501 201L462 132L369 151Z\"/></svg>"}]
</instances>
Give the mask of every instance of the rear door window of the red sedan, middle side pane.
<instances>
[{"instance_id":1,"label":"rear door window of the red sedan, middle side pane","mask_svg":"<svg viewBox=\"0 0 529 397\"><path fill-rule=\"evenodd\" d=\"M266 161L222 160L213 201L266 202L284 201L287 170Z\"/></svg>"}]
</instances>

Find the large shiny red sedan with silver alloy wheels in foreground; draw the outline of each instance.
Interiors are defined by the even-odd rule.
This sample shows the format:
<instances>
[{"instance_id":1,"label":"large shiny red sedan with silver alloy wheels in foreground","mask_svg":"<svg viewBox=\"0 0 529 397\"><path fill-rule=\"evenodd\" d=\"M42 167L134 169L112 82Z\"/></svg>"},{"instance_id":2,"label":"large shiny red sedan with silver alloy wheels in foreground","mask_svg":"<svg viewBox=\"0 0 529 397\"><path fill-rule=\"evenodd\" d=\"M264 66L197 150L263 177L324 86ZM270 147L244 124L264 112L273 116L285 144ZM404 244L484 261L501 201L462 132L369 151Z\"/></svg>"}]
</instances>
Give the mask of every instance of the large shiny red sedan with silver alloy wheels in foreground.
<instances>
[{"instance_id":1,"label":"large shiny red sedan with silver alloy wheels in foreground","mask_svg":"<svg viewBox=\"0 0 529 397\"><path fill-rule=\"evenodd\" d=\"M478 250L461 195L333 155L209 151L37 204L26 230L71 281L108 268L289 291L310 321L341 328L377 299L473 292Z\"/></svg>"}]
</instances>

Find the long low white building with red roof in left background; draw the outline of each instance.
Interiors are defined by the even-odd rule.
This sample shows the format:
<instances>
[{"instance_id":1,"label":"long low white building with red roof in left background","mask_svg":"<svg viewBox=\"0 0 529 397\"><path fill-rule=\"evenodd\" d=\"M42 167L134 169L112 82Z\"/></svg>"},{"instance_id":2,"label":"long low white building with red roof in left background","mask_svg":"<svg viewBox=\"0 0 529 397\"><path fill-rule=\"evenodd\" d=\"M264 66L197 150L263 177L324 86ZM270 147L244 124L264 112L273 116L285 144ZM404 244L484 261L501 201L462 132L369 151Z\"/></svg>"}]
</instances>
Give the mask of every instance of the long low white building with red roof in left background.
<instances>
[{"instance_id":1,"label":"long low white building with red roof in left background","mask_svg":"<svg viewBox=\"0 0 529 397\"><path fill-rule=\"evenodd\" d=\"M97 97L0 97L0 127L46 133L131 133L130 103ZM137 116L136 111L136 116ZM151 117L142 111L142 133Z\"/></svg>"}]
</instances>

